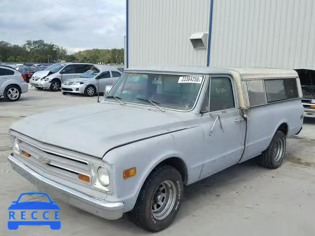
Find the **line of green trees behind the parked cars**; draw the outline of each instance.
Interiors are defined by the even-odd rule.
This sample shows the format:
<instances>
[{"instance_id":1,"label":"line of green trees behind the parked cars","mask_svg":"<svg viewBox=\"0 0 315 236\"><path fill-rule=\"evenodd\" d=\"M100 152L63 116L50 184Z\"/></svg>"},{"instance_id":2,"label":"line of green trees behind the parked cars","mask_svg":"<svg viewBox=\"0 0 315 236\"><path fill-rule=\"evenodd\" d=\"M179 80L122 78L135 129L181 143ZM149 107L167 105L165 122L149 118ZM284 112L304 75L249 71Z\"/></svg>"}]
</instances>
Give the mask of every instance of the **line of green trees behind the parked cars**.
<instances>
[{"instance_id":1,"label":"line of green trees behind the parked cars","mask_svg":"<svg viewBox=\"0 0 315 236\"><path fill-rule=\"evenodd\" d=\"M27 40L21 46L0 41L0 61L31 63L66 61L122 64L124 63L124 49L91 49L67 54L63 47L46 43L44 40Z\"/></svg>"}]
</instances>

